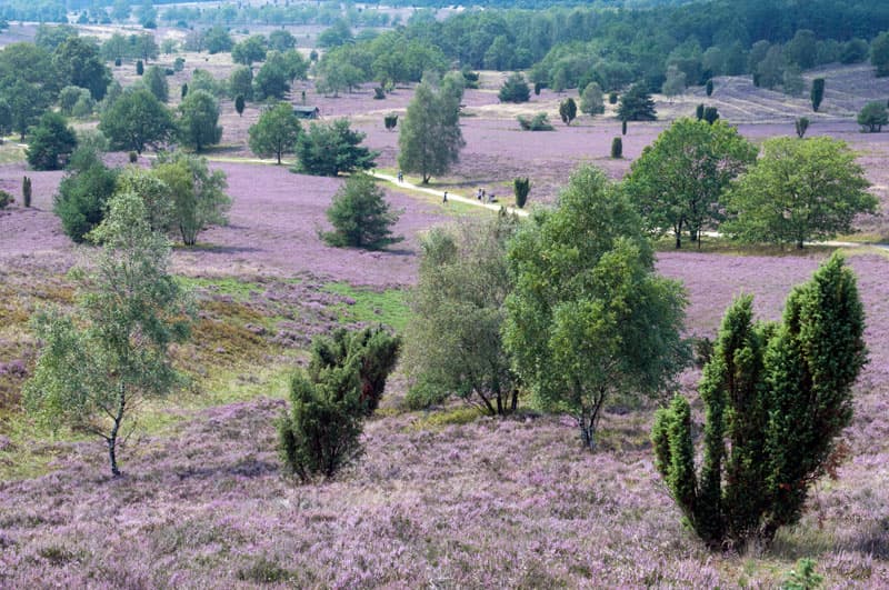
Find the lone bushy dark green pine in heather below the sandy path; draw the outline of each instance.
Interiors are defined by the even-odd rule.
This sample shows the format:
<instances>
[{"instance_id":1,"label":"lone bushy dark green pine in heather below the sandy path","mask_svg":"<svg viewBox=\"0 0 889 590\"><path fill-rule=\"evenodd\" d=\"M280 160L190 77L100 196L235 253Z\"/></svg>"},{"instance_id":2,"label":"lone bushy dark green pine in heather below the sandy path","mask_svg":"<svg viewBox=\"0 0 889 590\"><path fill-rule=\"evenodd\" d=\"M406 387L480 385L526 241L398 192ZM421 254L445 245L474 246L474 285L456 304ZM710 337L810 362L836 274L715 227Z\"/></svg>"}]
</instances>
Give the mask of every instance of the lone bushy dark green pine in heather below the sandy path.
<instances>
[{"instance_id":1,"label":"lone bushy dark green pine in heather below the sandy path","mask_svg":"<svg viewBox=\"0 0 889 590\"><path fill-rule=\"evenodd\" d=\"M353 174L333 196L327 219L333 231L320 232L329 246L382 250L404 238L392 237L399 213L389 209L386 193L367 174Z\"/></svg>"}]
</instances>

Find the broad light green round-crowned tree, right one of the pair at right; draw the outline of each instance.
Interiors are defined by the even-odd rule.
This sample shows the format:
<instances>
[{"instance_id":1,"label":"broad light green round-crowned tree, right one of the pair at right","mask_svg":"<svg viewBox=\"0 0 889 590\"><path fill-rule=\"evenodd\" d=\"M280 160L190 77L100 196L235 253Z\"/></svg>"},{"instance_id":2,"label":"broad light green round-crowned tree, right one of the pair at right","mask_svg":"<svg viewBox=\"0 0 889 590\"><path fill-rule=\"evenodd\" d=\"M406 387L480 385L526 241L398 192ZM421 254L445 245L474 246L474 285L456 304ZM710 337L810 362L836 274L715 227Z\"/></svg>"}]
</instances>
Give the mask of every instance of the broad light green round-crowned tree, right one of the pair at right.
<instances>
[{"instance_id":1,"label":"broad light green round-crowned tree, right one of the pair at right","mask_svg":"<svg viewBox=\"0 0 889 590\"><path fill-rule=\"evenodd\" d=\"M860 213L875 213L876 197L856 154L829 137L772 138L729 191L727 233L746 242L829 240L853 231Z\"/></svg>"}]
</instances>

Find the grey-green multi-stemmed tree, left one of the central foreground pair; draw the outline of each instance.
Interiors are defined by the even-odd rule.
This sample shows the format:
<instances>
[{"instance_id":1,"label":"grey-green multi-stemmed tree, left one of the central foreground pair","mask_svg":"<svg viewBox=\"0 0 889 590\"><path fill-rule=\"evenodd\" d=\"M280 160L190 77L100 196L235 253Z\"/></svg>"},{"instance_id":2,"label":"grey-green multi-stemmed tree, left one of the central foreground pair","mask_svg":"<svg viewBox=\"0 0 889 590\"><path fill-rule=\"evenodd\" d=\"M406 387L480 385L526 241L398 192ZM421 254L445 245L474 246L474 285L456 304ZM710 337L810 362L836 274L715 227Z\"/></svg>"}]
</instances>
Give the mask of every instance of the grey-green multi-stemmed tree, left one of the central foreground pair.
<instances>
[{"instance_id":1,"label":"grey-green multi-stemmed tree, left one of the central foreground pair","mask_svg":"<svg viewBox=\"0 0 889 590\"><path fill-rule=\"evenodd\" d=\"M500 214L433 228L421 244L406 329L411 379L436 399L456 394L489 416L518 406L519 380L501 337L512 290L507 243L518 224L515 216Z\"/></svg>"}]
</instances>

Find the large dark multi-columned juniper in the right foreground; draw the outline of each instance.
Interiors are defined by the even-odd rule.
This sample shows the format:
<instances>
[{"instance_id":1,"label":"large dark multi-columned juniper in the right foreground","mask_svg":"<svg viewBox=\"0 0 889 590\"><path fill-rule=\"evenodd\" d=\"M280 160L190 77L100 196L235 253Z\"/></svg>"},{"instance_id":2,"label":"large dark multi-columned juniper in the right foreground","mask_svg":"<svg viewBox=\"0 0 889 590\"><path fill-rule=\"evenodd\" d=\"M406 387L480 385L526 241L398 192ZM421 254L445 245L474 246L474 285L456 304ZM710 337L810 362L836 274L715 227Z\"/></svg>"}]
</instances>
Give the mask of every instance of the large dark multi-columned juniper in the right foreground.
<instances>
[{"instance_id":1,"label":"large dark multi-columned juniper in the right foreground","mask_svg":"<svg viewBox=\"0 0 889 590\"><path fill-rule=\"evenodd\" d=\"M658 411L651 436L673 500L709 546L769 543L799 521L851 420L863 331L855 276L839 254L793 289L780 323L753 323L750 297L728 309L699 388L700 472L685 398Z\"/></svg>"}]
</instances>

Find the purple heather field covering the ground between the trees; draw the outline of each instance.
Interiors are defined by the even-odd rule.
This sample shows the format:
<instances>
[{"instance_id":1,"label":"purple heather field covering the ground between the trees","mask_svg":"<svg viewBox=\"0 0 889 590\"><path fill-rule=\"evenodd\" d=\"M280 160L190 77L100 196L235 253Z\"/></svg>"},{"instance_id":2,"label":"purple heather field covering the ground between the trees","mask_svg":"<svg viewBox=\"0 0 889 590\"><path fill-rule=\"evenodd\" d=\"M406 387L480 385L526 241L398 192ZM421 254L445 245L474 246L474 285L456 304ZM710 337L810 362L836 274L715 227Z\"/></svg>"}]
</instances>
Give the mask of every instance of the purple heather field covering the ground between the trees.
<instances>
[{"instance_id":1,"label":"purple heather field covering the ground between the trees","mask_svg":"<svg viewBox=\"0 0 889 590\"><path fill-rule=\"evenodd\" d=\"M310 44L300 38L302 49ZM187 56L186 71L170 79L172 103L194 67L221 79L231 61ZM132 83L132 69L124 62L114 76ZM809 134L848 141L886 209L889 134L859 133L852 113L889 96L889 79L875 81L859 67L817 73L828 92ZM552 203L579 163L620 178L670 120L703 101L698 90L658 100L662 119L630 123L625 158L612 160L611 139L620 134L613 107L566 127L558 104L576 91L543 90L528 104L502 106L501 80L483 72L481 88L466 92L467 146L433 188L469 194L486 187L507 200L512 178L529 176L530 203ZM843 90L852 84L862 91ZM403 116L411 88L373 100L369 84L334 98L304 83L293 102L302 90L324 120L348 117L367 133L379 169L396 170L398 133L383 129L382 117ZM719 79L709 102L757 142L792 134L792 118L807 106L740 79ZM488 213L386 184L404 241L381 252L328 247L318 231L329 227L324 211L342 179L258 162L246 142L260 107L248 104L243 117L230 100L220 107L222 144L209 158L228 178L230 223L202 232L194 248L173 249L174 272L199 302L192 340L173 349L190 383L142 408L140 429L121 451L121 478L107 474L100 440L46 431L21 411L37 356L29 317L72 304L68 271L89 263L91 251L73 246L51 212L61 172L29 171L19 152L0 163L0 189L17 198L0 211L0 588L777 588L805 557L817 560L826 587L889 588L889 251L846 249L870 351L843 436L848 452L838 477L815 487L802 521L779 531L769 550L713 553L683 529L649 441L668 391L606 413L600 449L590 453L571 420L540 413L528 399L506 419L457 402L410 410L408 379L397 368L366 423L361 460L333 481L298 486L281 474L276 421L312 337L343 326L403 329L422 232ZM539 111L556 130L521 131L516 116ZM143 156L140 164L148 163ZM21 204L26 173L31 209ZM856 239L889 237L883 216L859 226L865 233ZM661 250L657 270L688 291L687 336L708 338L742 292L755 296L760 319L780 318L792 286L830 250L705 242L703 251ZM680 379L697 432L699 378L688 369Z\"/></svg>"}]
</instances>

